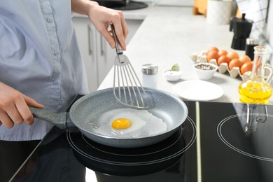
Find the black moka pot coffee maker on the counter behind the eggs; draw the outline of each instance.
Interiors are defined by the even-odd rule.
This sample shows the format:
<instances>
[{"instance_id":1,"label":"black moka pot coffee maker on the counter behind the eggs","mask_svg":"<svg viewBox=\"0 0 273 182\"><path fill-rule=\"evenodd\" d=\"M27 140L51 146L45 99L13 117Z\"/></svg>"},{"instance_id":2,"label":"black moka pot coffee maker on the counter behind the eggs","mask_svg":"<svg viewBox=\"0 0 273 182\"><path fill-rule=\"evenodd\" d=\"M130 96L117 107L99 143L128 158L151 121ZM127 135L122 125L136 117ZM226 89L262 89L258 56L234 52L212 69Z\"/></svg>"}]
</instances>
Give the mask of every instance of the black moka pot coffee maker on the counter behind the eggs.
<instances>
[{"instance_id":1,"label":"black moka pot coffee maker on the counter behind the eggs","mask_svg":"<svg viewBox=\"0 0 273 182\"><path fill-rule=\"evenodd\" d=\"M231 48L236 50L246 49L246 38L251 33L253 21L245 18L243 13L242 18L232 18L230 21L230 31L234 31Z\"/></svg>"}]
</instances>

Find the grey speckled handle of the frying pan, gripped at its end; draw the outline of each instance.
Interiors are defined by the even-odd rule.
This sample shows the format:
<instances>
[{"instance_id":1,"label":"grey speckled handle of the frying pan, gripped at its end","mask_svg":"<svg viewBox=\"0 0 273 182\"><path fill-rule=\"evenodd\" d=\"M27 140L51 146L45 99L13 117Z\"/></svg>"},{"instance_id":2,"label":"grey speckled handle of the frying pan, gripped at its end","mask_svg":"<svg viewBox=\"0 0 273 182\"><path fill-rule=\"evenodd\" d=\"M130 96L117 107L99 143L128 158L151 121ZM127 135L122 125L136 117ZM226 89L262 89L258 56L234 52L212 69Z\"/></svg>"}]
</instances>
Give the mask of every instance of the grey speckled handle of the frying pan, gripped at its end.
<instances>
[{"instance_id":1,"label":"grey speckled handle of the frying pan, gripped at its end","mask_svg":"<svg viewBox=\"0 0 273 182\"><path fill-rule=\"evenodd\" d=\"M51 123L51 124L55 125L56 127L59 127L60 129L67 128L66 118L69 118L69 116L66 117L66 112L53 113L50 111L46 111L45 109L38 109L38 108L31 107L31 106L29 106L29 109L30 109L32 115L34 116L34 118L45 120L48 123Z\"/></svg>"}]
</instances>

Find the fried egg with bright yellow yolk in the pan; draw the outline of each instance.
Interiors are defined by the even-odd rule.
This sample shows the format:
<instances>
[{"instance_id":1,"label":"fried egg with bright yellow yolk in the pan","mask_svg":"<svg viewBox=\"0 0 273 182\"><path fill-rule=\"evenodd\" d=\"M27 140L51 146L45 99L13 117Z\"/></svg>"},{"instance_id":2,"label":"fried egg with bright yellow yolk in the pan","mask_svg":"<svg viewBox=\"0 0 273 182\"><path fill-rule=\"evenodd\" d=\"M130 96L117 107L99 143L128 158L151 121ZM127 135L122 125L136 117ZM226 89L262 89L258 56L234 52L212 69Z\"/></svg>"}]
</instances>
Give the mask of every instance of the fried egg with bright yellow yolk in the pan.
<instances>
[{"instance_id":1,"label":"fried egg with bright yellow yolk in the pan","mask_svg":"<svg viewBox=\"0 0 273 182\"><path fill-rule=\"evenodd\" d=\"M96 118L97 134L107 137L149 137L167 130L166 123L146 110L115 109Z\"/></svg>"}]
</instances>

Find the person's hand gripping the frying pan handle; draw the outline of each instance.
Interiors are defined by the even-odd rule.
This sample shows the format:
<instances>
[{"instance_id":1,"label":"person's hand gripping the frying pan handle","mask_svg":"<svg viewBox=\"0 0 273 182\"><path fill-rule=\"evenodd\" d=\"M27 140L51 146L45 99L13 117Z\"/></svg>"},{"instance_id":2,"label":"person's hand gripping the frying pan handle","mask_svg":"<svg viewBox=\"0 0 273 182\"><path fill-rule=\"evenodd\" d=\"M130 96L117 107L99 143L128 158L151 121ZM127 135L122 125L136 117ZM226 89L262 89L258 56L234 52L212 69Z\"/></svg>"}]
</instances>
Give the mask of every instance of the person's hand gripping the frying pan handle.
<instances>
[{"instance_id":1,"label":"person's hand gripping the frying pan handle","mask_svg":"<svg viewBox=\"0 0 273 182\"><path fill-rule=\"evenodd\" d=\"M43 104L0 82L0 125L12 128L24 120L27 125L32 125L34 118L29 106L43 108Z\"/></svg>"}]
</instances>

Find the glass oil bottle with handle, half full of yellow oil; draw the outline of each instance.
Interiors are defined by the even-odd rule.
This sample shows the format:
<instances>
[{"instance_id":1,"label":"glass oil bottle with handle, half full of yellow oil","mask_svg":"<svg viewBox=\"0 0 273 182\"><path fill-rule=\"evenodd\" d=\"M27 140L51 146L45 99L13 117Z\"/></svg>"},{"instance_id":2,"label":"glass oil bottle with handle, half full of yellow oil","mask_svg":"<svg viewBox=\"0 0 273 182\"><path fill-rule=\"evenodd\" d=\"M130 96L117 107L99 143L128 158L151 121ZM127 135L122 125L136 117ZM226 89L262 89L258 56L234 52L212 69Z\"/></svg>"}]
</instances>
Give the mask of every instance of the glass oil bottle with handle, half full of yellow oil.
<instances>
[{"instance_id":1,"label":"glass oil bottle with handle, half full of yellow oil","mask_svg":"<svg viewBox=\"0 0 273 182\"><path fill-rule=\"evenodd\" d=\"M240 101L254 104L267 104L272 95L273 69L267 64L268 49L257 45L254 47L254 60L250 79L239 85ZM269 71L265 75L265 71Z\"/></svg>"}]
</instances>

